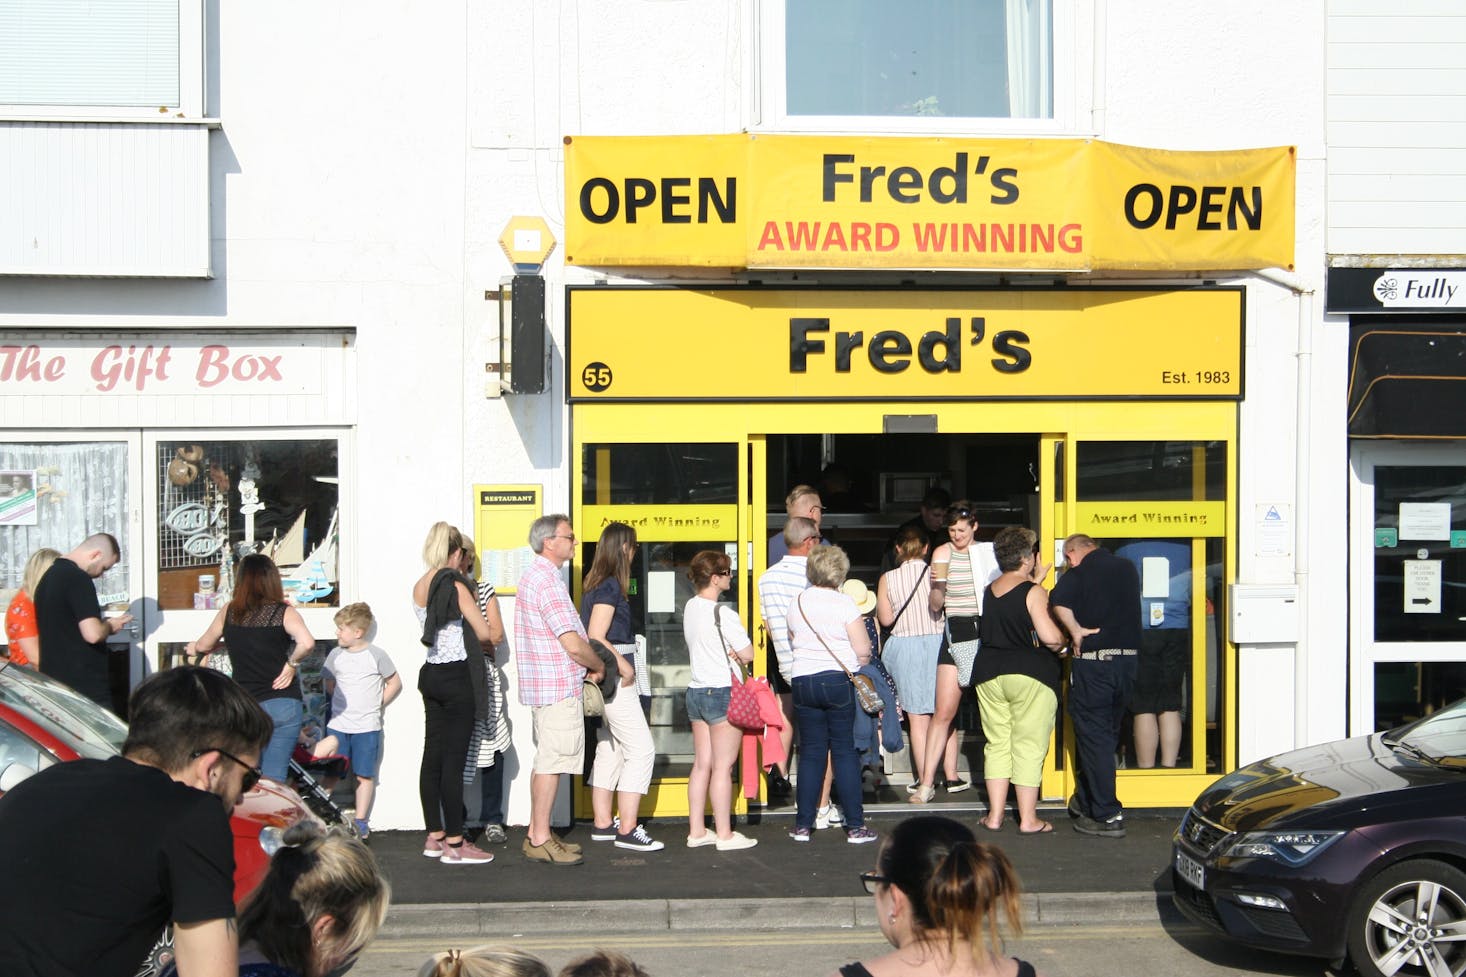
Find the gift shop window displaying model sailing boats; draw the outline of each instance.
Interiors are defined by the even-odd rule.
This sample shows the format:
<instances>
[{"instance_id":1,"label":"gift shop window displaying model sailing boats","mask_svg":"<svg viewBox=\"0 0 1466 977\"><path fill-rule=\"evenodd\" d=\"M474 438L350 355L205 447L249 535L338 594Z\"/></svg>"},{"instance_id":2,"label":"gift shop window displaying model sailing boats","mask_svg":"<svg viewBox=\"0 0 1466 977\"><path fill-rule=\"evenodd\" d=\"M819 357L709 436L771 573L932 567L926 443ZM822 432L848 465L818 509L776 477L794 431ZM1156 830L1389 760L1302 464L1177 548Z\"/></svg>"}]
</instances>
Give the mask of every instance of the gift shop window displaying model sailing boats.
<instances>
[{"instance_id":1,"label":"gift shop window displaying model sailing boats","mask_svg":"<svg viewBox=\"0 0 1466 977\"><path fill-rule=\"evenodd\" d=\"M249 553L280 566L295 603L339 603L334 439L158 442L154 465L163 610L223 606Z\"/></svg>"}]
</instances>

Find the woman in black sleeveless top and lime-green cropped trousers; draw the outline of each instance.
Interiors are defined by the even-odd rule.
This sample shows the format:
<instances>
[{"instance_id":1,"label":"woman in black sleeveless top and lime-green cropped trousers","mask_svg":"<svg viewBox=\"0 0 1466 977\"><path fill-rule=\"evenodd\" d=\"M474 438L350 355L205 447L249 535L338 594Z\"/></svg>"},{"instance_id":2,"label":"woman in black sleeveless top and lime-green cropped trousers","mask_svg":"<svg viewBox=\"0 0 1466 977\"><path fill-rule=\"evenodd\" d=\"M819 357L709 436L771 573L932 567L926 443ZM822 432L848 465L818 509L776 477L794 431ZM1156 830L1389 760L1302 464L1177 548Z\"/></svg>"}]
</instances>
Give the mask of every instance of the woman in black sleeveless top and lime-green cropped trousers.
<instances>
[{"instance_id":1,"label":"woman in black sleeveless top and lime-green cropped trousers","mask_svg":"<svg viewBox=\"0 0 1466 977\"><path fill-rule=\"evenodd\" d=\"M1017 830L1054 830L1038 819L1038 786L1058 707L1058 657L1063 632L1048 616L1048 591L1038 581L1048 566L1038 559L1032 530L1009 527L992 540L1003 574L982 599L982 651L972 667L982 714L982 773L988 816L982 827L1003 827L1009 782L1017 801Z\"/></svg>"}]
</instances>

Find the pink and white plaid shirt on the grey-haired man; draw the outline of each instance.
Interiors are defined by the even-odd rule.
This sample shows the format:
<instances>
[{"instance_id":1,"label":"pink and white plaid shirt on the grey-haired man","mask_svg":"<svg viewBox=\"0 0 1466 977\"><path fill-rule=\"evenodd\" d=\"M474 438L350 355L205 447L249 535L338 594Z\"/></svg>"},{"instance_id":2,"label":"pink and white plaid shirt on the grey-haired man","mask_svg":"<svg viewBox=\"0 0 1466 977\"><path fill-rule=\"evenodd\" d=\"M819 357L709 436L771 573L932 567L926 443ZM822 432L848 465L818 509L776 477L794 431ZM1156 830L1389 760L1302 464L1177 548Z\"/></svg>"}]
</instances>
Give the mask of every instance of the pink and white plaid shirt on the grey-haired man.
<instances>
[{"instance_id":1,"label":"pink and white plaid shirt on the grey-haired man","mask_svg":"<svg viewBox=\"0 0 1466 977\"><path fill-rule=\"evenodd\" d=\"M585 637L559 568L537 556L519 578L515 594L515 660L522 706L550 706L581 697L585 667L560 644L560 635L569 631Z\"/></svg>"}]
</instances>

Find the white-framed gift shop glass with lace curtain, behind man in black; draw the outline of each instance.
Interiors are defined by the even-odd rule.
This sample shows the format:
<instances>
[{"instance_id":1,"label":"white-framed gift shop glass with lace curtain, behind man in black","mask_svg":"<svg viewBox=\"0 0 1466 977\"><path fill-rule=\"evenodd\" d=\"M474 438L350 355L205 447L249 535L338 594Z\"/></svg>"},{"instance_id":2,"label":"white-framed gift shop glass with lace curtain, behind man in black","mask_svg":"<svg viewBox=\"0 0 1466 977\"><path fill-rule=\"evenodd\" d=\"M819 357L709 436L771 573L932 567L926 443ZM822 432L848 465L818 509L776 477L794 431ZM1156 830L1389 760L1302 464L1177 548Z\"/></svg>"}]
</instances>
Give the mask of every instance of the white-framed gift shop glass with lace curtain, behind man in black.
<instances>
[{"instance_id":1,"label":"white-framed gift shop glass with lace curtain, behind man in black","mask_svg":"<svg viewBox=\"0 0 1466 977\"><path fill-rule=\"evenodd\" d=\"M7 431L0 440L0 600L22 587L32 553L70 553L88 535L110 533L122 550L97 578L106 610L129 612L132 625L108 647L113 710L126 714L128 694L147 673L141 635L150 612L144 599L141 434L135 431ZM43 648L44 654L44 648Z\"/></svg>"}]
</instances>

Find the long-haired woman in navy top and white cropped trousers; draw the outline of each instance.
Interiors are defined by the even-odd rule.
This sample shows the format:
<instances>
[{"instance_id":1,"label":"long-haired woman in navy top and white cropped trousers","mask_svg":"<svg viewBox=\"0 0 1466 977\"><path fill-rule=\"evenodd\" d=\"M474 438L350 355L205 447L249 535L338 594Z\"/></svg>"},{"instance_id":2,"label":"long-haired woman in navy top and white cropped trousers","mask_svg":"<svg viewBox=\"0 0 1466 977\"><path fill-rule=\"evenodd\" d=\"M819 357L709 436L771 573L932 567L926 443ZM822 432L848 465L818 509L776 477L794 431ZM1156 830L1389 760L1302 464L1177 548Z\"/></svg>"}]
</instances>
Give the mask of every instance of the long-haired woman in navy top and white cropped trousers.
<instances>
[{"instance_id":1,"label":"long-haired woman in navy top and white cropped trousers","mask_svg":"<svg viewBox=\"0 0 1466 977\"><path fill-rule=\"evenodd\" d=\"M605 703L605 713L595 731L595 761L591 766L591 810L595 823L591 841L616 842L632 851L661 851L639 823L641 799L651 786L651 764L657 747L651 741L647 713L636 695L636 634L632 631L632 606L626 590L636 555L636 530L611 522L601 530L591 569L581 596L581 622L592 641L610 645L616 654L620 688ZM635 662L635 665L633 665ZM611 817L611 799L617 816Z\"/></svg>"}]
</instances>

